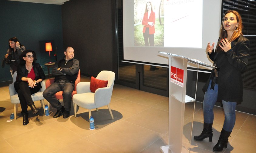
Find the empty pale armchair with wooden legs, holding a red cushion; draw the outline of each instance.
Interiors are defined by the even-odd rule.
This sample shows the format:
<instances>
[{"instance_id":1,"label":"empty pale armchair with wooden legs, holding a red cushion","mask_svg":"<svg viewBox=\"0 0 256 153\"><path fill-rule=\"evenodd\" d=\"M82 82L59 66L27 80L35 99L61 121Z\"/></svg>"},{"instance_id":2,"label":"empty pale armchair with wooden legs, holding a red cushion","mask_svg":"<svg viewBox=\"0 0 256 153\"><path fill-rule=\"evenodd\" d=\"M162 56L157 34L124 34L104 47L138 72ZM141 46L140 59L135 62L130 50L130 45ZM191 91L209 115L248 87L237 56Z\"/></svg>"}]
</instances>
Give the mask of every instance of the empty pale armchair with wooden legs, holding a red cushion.
<instances>
[{"instance_id":1,"label":"empty pale armchair with wooden legs, holding a red cushion","mask_svg":"<svg viewBox=\"0 0 256 153\"><path fill-rule=\"evenodd\" d=\"M76 117L77 105L89 109L89 118L92 116L92 109L98 109L102 106L108 106L110 115L114 119L109 103L112 96L115 73L112 71L101 71L96 79L108 80L107 87L99 88L92 93L90 91L90 82L80 82L76 86L77 94L73 96L74 113Z\"/></svg>"}]
</instances>

